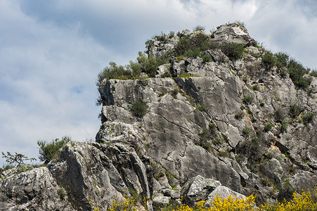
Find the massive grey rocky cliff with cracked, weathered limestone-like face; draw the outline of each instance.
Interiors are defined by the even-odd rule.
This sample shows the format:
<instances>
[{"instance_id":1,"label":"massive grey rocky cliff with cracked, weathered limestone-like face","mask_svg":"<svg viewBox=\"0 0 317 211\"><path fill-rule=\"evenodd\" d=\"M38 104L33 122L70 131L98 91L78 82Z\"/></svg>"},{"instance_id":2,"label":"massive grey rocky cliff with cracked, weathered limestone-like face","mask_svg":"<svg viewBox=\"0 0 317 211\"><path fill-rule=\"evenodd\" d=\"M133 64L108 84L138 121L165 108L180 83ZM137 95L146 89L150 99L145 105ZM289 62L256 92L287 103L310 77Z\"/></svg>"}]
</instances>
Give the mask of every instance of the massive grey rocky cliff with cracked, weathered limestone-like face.
<instances>
[{"instance_id":1,"label":"massive grey rocky cliff with cracked, weathered limestone-like face","mask_svg":"<svg viewBox=\"0 0 317 211\"><path fill-rule=\"evenodd\" d=\"M100 75L96 143L72 141L46 167L4 172L2 210L106 209L127 196L157 210L181 196L208 205L217 193L257 194L263 203L316 185L317 78L309 70L236 23L146 44L138 75Z\"/></svg>"}]
</instances>

